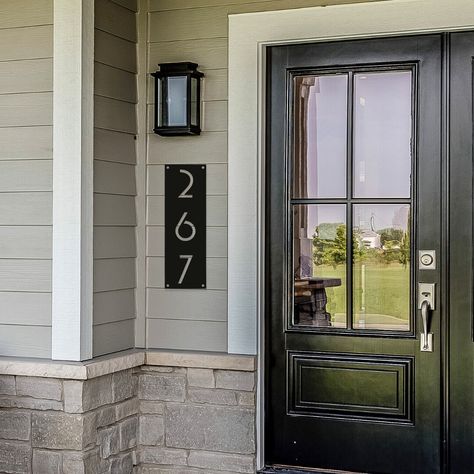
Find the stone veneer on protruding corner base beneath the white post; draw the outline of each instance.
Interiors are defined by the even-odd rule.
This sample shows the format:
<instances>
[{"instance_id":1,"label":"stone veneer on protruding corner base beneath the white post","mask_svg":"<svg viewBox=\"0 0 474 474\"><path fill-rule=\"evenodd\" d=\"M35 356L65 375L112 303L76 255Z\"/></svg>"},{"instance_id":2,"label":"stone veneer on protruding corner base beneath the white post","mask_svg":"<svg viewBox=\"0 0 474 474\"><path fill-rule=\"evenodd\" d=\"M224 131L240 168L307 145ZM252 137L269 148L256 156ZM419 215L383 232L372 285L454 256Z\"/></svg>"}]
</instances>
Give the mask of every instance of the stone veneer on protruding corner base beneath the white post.
<instances>
[{"instance_id":1,"label":"stone veneer on protruding corner base beneath the white post","mask_svg":"<svg viewBox=\"0 0 474 474\"><path fill-rule=\"evenodd\" d=\"M0 472L133 472L137 382L132 369L84 381L0 376Z\"/></svg>"}]
</instances>

